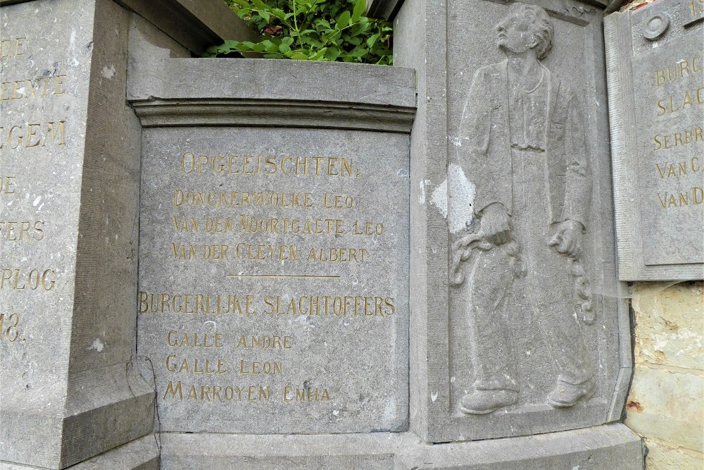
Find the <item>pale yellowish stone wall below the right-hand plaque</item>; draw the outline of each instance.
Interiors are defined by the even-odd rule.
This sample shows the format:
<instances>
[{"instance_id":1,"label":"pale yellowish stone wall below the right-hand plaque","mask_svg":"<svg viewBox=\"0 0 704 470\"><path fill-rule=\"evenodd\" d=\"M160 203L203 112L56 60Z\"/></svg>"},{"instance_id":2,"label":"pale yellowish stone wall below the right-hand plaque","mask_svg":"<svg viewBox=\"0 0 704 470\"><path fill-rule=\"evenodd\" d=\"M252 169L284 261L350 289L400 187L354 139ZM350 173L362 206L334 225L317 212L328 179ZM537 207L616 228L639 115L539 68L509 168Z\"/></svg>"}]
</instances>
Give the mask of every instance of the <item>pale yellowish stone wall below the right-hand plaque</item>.
<instances>
[{"instance_id":1,"label":"pale yellowish stone wall below the right-hand plaque","mask_svg":"<svg viewBox=\"0 0 704 470\"><path fill-rule=\"evenodd\" d=\"M625 423L646 438L648 469L698 469L704 459L703 287L634 285L636 367Z\"/></svg>"}]
</instances>

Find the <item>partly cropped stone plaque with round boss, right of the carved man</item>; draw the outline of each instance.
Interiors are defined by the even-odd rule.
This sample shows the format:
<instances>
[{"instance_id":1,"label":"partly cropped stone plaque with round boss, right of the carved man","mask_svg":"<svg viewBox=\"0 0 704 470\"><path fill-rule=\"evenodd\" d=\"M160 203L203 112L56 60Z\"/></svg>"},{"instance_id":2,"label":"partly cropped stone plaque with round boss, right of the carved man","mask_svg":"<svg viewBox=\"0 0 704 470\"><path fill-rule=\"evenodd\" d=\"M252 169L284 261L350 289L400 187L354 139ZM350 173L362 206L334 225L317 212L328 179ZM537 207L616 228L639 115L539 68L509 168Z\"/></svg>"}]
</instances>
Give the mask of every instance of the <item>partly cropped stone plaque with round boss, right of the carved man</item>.
<instances>
[{"instance_id":1,"label":"partly cropped stone plaque with round boss, right of the carved man","mask_svg":"<svg viewBox=\"0 0 704 470\"><path fill-rule=\"evenodd\" d=\"M704 278L704 23L658 1L608 16L620 277Z\"/></svg>"}]
</instances>

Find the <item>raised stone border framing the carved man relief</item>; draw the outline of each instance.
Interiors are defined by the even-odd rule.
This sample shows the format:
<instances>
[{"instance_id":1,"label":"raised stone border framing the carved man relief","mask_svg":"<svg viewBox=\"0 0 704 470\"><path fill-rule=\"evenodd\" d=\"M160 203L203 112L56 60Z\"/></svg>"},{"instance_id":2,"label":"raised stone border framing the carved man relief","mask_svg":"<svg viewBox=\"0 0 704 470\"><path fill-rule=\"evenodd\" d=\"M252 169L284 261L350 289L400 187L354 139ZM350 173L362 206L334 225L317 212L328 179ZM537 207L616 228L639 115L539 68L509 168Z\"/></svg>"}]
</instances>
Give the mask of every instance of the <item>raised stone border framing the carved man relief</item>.
<instances>
[{"instance_id":1,"label":"raised stone border framing the carved man relief","mask_svg":"<svg viewBox=\"0 0 704 470\"><path fill-rule=\"evenodd\" d=\"M527 1L548 11L556 20L582 28L584 51L590 61L580 73L590 84L581 94L583 113L589 116L586 142L593 168L592 217L598 214L598 233L593 240L596 263L601 270L593 287L605 300L601 326L607 331L599 338L599 363L605 369L596 399L585 409L546 409L543 412L466 416L451 407L451 361L449 347L451 322L449 313L448 225L431 202L433 190L447 176L453 143L451 128L453 87L451 61L456 57L446 44L458 41L451 30L452 4L446 7L438 0L413 2L402 8L396 20L415 27L396 30L395 65L415 67L418 71L418 110L411 141L411 426L427 442L501 438L584 428L620 419L631 375L631 347L627 304L620 299L623 285L617 280L610 154L608 148L608 116L605 106L606 83L600 8L572 0ZM505 2L480 0L465 2L470 18L480 18L485 4L508 7ZM408 8L410 7L410 8ZM433 18L424 21L423 18ZM419 23L420 22L420 23ZM476 34L476 33L475 33ZM470 67L473 73L479 66ZM472 64L474 65L474 64ZM470 81L470 77L465 80ZM468 86L468 83L467 83ZM585 96L589 90L593 96ZM596 212L598 211L598 212ZM600 327L601 328L601 327ZM579 416L578 416L579 415Z\"/></svg>"}]
</instances>

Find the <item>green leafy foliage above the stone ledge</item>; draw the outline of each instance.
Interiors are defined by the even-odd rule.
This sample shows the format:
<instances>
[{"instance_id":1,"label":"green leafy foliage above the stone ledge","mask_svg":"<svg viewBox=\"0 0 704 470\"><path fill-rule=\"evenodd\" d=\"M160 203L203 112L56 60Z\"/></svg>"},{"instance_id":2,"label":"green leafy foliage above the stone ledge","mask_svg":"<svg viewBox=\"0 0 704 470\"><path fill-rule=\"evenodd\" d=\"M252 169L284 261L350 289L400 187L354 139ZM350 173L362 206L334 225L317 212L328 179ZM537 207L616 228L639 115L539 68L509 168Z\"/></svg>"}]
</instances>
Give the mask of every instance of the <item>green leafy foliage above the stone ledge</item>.
<instances>
[{"instance_id":1,"label":"green leafy foliage above the stone ledge","mask_svg":"<svg viewBox=\"0 0 704 470\"><path fill-rule=\"evenodd\" d=\"M225 0L258 30L260 42L225 41L210 57L233 51L265 58L391 65L391 23L364 16L366 0Z\"/></svg>"}]
</instances>

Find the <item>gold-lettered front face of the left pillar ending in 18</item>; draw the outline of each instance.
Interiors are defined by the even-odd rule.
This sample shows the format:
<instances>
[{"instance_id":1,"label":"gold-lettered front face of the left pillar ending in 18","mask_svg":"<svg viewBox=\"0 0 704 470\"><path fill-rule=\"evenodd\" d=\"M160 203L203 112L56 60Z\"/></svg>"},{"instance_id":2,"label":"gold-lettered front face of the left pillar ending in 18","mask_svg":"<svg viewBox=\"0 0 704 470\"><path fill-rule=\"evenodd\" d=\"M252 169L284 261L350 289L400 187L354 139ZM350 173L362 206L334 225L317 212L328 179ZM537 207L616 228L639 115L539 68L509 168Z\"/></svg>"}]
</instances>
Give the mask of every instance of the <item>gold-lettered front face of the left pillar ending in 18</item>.
<instances>
[{"instance_id":1,"label":"gold-lettered front face of the left pillar ending in 18","mask_svg":"<svg viewBox=\"0 0 704 470\"><path fill-rule=\"evenodd\" d=\"M46 30L37 4L0 11L0 454L18 460L15 420L33 429L65 397L91 54L67 19L91 25L88 8L65 6ZM42 426L60 439L60 419Z\"/></svg>"}]
</instances>

